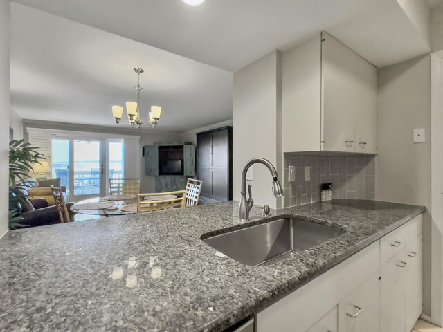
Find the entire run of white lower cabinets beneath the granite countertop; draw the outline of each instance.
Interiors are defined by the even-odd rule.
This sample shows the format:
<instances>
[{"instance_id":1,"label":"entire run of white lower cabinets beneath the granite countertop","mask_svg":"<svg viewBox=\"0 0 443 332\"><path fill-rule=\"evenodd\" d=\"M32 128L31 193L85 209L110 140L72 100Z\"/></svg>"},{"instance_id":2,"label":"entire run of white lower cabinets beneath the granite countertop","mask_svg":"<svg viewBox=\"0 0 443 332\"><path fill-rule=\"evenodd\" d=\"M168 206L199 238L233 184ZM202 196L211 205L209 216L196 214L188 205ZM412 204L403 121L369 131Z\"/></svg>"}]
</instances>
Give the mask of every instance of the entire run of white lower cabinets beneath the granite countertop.
<instances>
[{"instance_id":1,"label":"entire run of white lower cabinets beneath the granite countertop","mask_svg":"<svg viewBox=\"0 0 443 332\"><path fill-rule=\"evenodd\" d=\"M257 313L255 332L410 332L422 313L422 214Z\"/></svg>"}]
</instances>

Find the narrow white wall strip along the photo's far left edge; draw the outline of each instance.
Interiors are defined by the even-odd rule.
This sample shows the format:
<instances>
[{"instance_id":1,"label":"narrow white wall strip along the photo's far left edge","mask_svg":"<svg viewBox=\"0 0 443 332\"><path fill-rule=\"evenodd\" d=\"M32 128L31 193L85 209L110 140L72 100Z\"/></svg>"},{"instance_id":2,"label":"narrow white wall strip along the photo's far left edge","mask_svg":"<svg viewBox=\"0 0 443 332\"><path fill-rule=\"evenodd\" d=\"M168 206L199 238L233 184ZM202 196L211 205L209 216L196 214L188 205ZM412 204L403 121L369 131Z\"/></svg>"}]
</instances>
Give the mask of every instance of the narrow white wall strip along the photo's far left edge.
<instances>
[{"instance_id":1,"label":"narrow white wall strip along the photo's far left edge","mask_svg":"<svg viewBox=\"0 0 443 332\"><path fill-rule=\"evenodd\" d=\"M0 237L8 231L10 1L0 0Z\"/></svg>"}]
</instances>

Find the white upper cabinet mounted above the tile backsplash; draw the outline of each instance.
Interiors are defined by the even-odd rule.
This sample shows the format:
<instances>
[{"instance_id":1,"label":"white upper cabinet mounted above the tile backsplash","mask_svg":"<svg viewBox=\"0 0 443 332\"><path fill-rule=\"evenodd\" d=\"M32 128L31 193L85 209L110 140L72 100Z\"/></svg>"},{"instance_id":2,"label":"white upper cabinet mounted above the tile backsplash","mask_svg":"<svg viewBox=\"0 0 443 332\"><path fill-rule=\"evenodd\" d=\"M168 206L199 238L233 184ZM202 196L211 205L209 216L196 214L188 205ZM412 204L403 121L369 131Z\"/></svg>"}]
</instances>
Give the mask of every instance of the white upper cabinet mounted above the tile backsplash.
<instances>
[{"instance_id":1,"label":"white upper cabinet mounted above the tile backsplash","mask_svg":"<svg viewBox=\"0 0 443 332\"><path fill-rule=\"evenodd\" d=\"M377 68L327 33L282 59L284 152L377 153Z\"/></svg>"}]
</instances>

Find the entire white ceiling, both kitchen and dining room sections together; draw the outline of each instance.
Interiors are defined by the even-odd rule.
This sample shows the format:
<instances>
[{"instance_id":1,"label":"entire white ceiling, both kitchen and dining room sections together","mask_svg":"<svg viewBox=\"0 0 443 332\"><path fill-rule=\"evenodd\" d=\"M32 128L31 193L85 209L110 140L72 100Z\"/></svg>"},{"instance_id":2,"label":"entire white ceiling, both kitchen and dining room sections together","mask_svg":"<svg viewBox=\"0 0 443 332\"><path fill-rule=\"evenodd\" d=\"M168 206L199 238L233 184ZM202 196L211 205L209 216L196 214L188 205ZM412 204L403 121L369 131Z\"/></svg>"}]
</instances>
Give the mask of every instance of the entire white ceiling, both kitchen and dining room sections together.
<instances>
[{"instance_id":1,"label":"entire white ceiling, both kitchen and dining room sections together","mask_svg":"<svg viewBox=\"0 0 443 332\"><path fill-rule=\"evenodd\" d=\"M134 66L145 69L142 111L163 107L156 131L228 120L233 72L321 30L378 67L430 51L397 0L15 0L11 7L11 104L35 120L114 125L111 105L135 98Z\"/></svg>"}]
</instances>

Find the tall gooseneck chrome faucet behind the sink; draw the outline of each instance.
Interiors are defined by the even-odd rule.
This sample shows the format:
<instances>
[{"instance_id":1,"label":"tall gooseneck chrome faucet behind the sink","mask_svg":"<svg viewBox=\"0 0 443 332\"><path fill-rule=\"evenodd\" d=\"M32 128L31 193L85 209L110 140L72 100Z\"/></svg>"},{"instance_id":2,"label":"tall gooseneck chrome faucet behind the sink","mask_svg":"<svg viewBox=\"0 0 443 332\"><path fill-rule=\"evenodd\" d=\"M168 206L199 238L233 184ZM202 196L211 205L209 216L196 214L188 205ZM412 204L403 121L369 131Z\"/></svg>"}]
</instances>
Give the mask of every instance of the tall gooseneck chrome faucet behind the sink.
<instances>
[{"instance_id":1,"label":"tall gooseneck chrome faucet behind the sink","mask_svg":"<svg viewBox=\"0 0 443 332\"><path fill-rule=\"evenodd\" d=\"M251 211L254 200L252 199L252 185L248 185L248 194L249 198L246 199L246 173L248 172L249 167L252 165L260 163L268 167L269 172L271 172L273 181L272 181L272 192L274 194L274 197L282 197L284 196L284 190L282 187L282 184L280 181L278 181L278 174L275 170L275 167L269 162L269 160L266 160L264 158L253 158L246 163L243 167L242 172L242 192L240 194L242 195L242 199L240 200L240 207L238 210L238 219L239 221L248 221L249 220L249 211Z\"/></svg>"}]
</instances>

